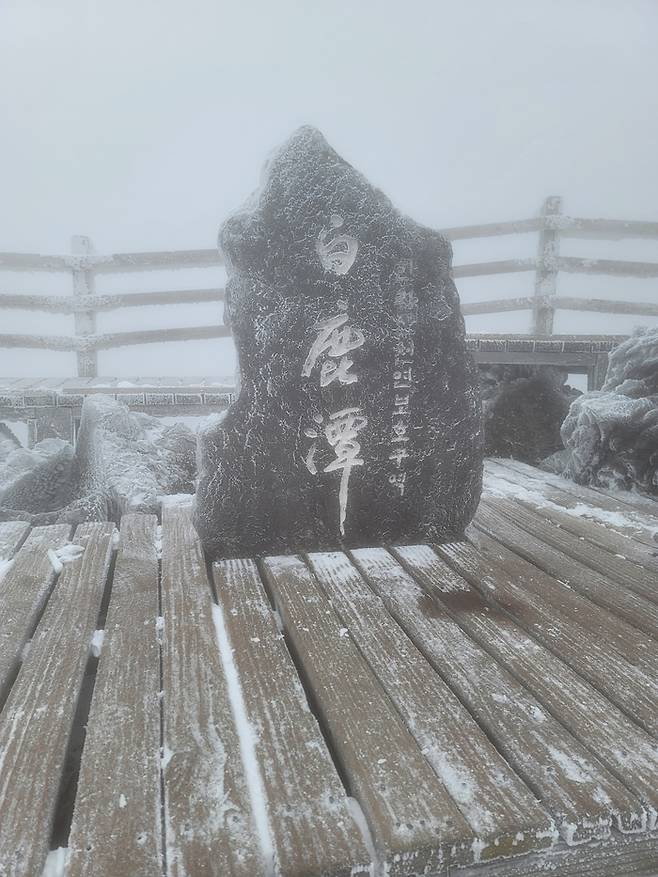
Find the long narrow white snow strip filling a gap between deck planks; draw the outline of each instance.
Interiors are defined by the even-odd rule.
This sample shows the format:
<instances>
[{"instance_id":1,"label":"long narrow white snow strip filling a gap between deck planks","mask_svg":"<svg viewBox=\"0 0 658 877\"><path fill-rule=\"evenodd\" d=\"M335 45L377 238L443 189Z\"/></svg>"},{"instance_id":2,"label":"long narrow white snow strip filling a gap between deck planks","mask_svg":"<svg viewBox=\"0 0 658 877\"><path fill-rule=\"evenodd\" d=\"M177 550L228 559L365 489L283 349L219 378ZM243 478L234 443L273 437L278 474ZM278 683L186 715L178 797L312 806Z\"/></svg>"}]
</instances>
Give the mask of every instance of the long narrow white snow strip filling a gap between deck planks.
<instances>
[{"instance_id":1,"label":"long narrow white snow strip filling a gap between deck planks","mask_svg":"<svg viewBox=\"0 0 658 877\"><path fill-rule=\"evenodd\" d=\"M274 877L274 842L272 840L272 831L267 815L265 787L263 785L263 778L256 758L256 734L251 722L247 718L247 709L242 695L242 685L238 676L238 669L233 660L233 649L231 648L231 643L228 638L228 631L226 630L226 625L224 623L224 613L222 612L221 606L213 604L212 613L213 622L215 624L215 635L219 646L219 654L224 668L224 675L226 677L226 688L231 703L231 712L233 714L233 721L235 722L238 739L240 741L242 767L247 780L247 790L249 792L249 800L251 802L254 823L256 825L256 833L258 835L258 841L265 862L265 872L268 877Z\"/></svg>"}]
</instances>

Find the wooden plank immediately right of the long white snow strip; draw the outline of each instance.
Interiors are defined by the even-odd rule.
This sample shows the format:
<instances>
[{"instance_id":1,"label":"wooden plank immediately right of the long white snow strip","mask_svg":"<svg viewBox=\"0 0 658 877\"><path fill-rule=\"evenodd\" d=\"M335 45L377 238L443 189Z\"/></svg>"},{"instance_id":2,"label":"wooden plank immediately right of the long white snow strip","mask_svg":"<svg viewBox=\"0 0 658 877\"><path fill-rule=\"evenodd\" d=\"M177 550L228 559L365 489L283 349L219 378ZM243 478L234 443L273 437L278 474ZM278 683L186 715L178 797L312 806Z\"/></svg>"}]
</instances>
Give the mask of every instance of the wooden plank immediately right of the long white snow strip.
<instances>
[{"instance_id":1,"label":"wooden plank immediately right of the long white snow strip","mask_svg":"<svg viewBox=\"0 0 658 877\"><path fill-rule=\"evenodd\" d=\"M253 560L213 566L282 874L367 874L370 856Z\"/></svg>"}]
</instances>

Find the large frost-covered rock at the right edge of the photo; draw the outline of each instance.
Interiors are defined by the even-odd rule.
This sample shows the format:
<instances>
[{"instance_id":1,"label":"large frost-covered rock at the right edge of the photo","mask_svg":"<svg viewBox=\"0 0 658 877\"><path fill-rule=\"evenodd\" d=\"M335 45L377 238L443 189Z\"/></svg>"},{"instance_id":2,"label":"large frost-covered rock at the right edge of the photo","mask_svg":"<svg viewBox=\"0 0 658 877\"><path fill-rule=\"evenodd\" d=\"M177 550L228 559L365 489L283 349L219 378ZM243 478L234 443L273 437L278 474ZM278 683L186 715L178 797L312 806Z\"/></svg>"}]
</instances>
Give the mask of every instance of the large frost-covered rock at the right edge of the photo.
<instances>
[{"instance_id":1,"label":"large frost-covered rock at the right edge of the photo","mask_svg":"<svg viewBox=\"0 0 658 877\"><path fill-rule=\"evenodd\" d=\"M658 495L658 329L610 354L602 389L571 405L562 439L567 477Z\"/></svg>"}]
</instances>

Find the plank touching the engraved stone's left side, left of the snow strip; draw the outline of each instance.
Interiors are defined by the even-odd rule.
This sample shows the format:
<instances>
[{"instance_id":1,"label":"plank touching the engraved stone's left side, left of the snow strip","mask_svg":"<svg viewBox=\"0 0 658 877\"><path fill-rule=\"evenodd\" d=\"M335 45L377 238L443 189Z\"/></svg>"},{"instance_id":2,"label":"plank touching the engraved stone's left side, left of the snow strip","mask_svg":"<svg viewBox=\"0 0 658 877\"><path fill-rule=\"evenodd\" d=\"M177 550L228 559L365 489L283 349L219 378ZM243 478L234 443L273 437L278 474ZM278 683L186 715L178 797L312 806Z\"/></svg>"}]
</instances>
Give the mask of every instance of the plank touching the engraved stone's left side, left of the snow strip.
<instances>
[{"instance_id":1,"label":"plank touching the engraved stone's left side, left of the snow strip","mask_svg":"<svg viewBox=\"0 0 658 877\"><path fill-rule=\"evenodd\" d=\"M264 873L189 502L162 509L162 662L168 877Z\"/></svg>"}]
</instances>

